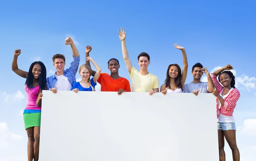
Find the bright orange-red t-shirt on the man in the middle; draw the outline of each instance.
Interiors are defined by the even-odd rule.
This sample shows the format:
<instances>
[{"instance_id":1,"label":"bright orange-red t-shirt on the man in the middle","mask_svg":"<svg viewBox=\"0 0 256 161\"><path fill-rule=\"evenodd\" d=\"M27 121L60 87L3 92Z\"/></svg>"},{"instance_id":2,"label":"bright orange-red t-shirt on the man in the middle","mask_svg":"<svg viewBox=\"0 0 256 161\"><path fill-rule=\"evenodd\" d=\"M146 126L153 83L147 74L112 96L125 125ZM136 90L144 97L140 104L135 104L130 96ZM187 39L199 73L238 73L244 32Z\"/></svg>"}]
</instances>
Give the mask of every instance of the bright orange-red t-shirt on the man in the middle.
<instances>
[{"instance_id":1,"label":"bright orange-red t-shirt on the man in the middle","mask_svg":"<svg viewBox=\"0 0 256 161\"><path fill-rule=\"evenodd\" d=\"M101 73L97 82L101 85L101 91L117 92L122 88L126 92L131 92L128 79L123 77L113 79L108 73Z\"/></svg>"}]
</instances>

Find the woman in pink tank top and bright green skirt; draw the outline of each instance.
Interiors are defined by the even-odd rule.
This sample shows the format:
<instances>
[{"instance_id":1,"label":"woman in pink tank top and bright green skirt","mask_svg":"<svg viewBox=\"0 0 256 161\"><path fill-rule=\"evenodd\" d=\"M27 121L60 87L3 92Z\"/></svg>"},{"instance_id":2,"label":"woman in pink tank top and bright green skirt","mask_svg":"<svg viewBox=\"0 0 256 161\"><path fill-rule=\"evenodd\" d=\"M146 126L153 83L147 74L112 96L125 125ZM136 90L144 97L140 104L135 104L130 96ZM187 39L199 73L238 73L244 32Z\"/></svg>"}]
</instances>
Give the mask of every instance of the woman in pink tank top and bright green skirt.
<instances>
[{"instance_id":1,"label":"woman in pink tank top and bright green skirt","mask_svg":"<svg viewBox=\"0 0 256 161\"><path fill-rule=\"evenodd\" d=\"M38 161L39 156L39 136L41 124L41 99L42 90L46 90L46 68L40 61L33 62L29 67L29 72L18 68L17 58L20 49L15 50L12 61L12 71L17 75L26 78L25 91L27 94L26 107L23 112L25 129L28 135L28 161ZM40 94L39 94L40 93Z\"/></svg>"}]
</instances>

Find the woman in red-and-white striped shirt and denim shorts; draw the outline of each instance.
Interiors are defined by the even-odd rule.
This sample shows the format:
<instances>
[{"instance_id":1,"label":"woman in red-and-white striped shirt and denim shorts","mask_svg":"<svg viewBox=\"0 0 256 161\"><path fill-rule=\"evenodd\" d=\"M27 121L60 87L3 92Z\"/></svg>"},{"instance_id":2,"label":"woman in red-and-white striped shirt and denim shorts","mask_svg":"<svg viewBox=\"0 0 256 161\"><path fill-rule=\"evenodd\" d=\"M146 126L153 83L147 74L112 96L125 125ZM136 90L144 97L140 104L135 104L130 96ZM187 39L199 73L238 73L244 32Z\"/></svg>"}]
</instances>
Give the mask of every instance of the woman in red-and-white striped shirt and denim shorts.
<instances>
[{"instance_id":1,"label":"woman in red-and-white striped shirt and denim shorts","mask_svg":"<svg viewBox=\"0 0 256 161\"><path fill-rule=\"evenodd\" d=\"M212 82L216 90L212 94L217 97L217 119L218 119L218 145L219 159L225 161L224 137L233 154L233 161L240 161L239 149L236 145L236 124L233 112L236 102L240 98L239 91L235 88L235 76L231 71L233 67L227 65L211 74ZM218 76L218 80L217 80Z\"/></svg>"}]
</instances>

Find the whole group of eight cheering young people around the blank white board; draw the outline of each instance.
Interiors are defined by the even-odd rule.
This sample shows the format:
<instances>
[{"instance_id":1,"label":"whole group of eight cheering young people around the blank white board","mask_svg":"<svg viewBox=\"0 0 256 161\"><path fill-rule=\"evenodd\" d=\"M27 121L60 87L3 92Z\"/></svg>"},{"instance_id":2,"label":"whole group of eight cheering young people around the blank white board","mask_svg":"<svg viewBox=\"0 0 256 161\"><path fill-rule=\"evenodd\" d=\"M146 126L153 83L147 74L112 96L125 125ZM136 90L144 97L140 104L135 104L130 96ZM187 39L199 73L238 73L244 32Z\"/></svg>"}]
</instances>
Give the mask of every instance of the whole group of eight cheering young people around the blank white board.
<instances>
[{"instance_id":1,"label":"whole group of eight cheering young people around the blank white board","mask_svg":"<svg viewBox=\"0 0 256 161\"><path fill-rule=\"evenodd\" d=\"M145 52L139 54L138 65L140 70L138 71L129 59L125 43L125 29L120 28L118 33L122 44L123 59L131 78L131 87L128 79L119 76L119 60L115 58L108 61L110 75L108 73L101 73L102 69L100 66L89 56L92 50L90 46L87 46L85 50L85 64L79 68L79 51L70 37L67 37L65 40L65 44L70 45L73 52L73 60L70 63L70 67L64 69L66 65L65 56L55 54L52 57L52 61L56 72L49 77L46 76L47 71L45 65L40 61L33 62L28 72L20 70L17 65L17 58L21 50L15 50L12 70L17 75L26 79L25 91L27 102L23 112L23 119L28 135L28 161L32 161L33 159L34 161L38 161L39 156L42 90L51 90L53 93L57 93L58 90L73 90L76 93L79 91L95 91L95 86L99 83L101 85L101 91L117 92L118 95L121 95L123 92L148 92L149 95L159 92L157 76L148 72L150 56ZM198 62L192 66L191 73L193 81L184 84L188 70L186 50L177 44L174 44L174 46L182 51L183 69L181 71L179 65L170 64L166 71L166 79L163 85L160 86L160 92L163 95L167 93L194 93L197 96L198 93L212 93L216 96L220 161L225 161L224 137L232 150L233 160L239 161L240 155L236 145L236 125L233 111L240 98L240 93L235 88L235 76L230 71L233 67L226 65L214 73L209 73L207 68ZM96 71L91 69L90 62L93 63ZM81 81L76 82L78 68ZM204 73L207 75L207 82L201 82L201 77Z\"/></svg>"}]
</instances>

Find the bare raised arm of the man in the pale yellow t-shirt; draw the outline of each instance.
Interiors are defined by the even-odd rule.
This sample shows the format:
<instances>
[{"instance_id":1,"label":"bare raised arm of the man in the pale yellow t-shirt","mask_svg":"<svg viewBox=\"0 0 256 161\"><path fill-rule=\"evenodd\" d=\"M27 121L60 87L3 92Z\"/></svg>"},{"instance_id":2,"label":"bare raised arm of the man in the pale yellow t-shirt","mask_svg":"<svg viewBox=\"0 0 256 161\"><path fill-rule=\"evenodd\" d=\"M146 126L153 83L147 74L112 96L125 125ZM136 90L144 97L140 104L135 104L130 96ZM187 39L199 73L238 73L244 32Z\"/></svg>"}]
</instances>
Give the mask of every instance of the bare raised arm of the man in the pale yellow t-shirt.
<instances>
[{"instance_id":1,"label":"bare raised arm of the man in the pale yellow t-shirt","mask_svg":"<svg viewBox=\"0 0 256 161\"><path fill-rule=\"evenodd\" d=\"M125 28L120 28L120 30L118 30L118 34L119 34L119 38L121 40L122 43L122 54L123 54L123 58L125 60L125 65L126 68L129 72L129 74L131 74L131 69L132 69L132 64L131 64L131 60L129 59L129 55L128 55L128 51L126 48L126 43L125 43L125 37L126 37L126 32L125 32Z\"/></svg>"}]
</instances>

